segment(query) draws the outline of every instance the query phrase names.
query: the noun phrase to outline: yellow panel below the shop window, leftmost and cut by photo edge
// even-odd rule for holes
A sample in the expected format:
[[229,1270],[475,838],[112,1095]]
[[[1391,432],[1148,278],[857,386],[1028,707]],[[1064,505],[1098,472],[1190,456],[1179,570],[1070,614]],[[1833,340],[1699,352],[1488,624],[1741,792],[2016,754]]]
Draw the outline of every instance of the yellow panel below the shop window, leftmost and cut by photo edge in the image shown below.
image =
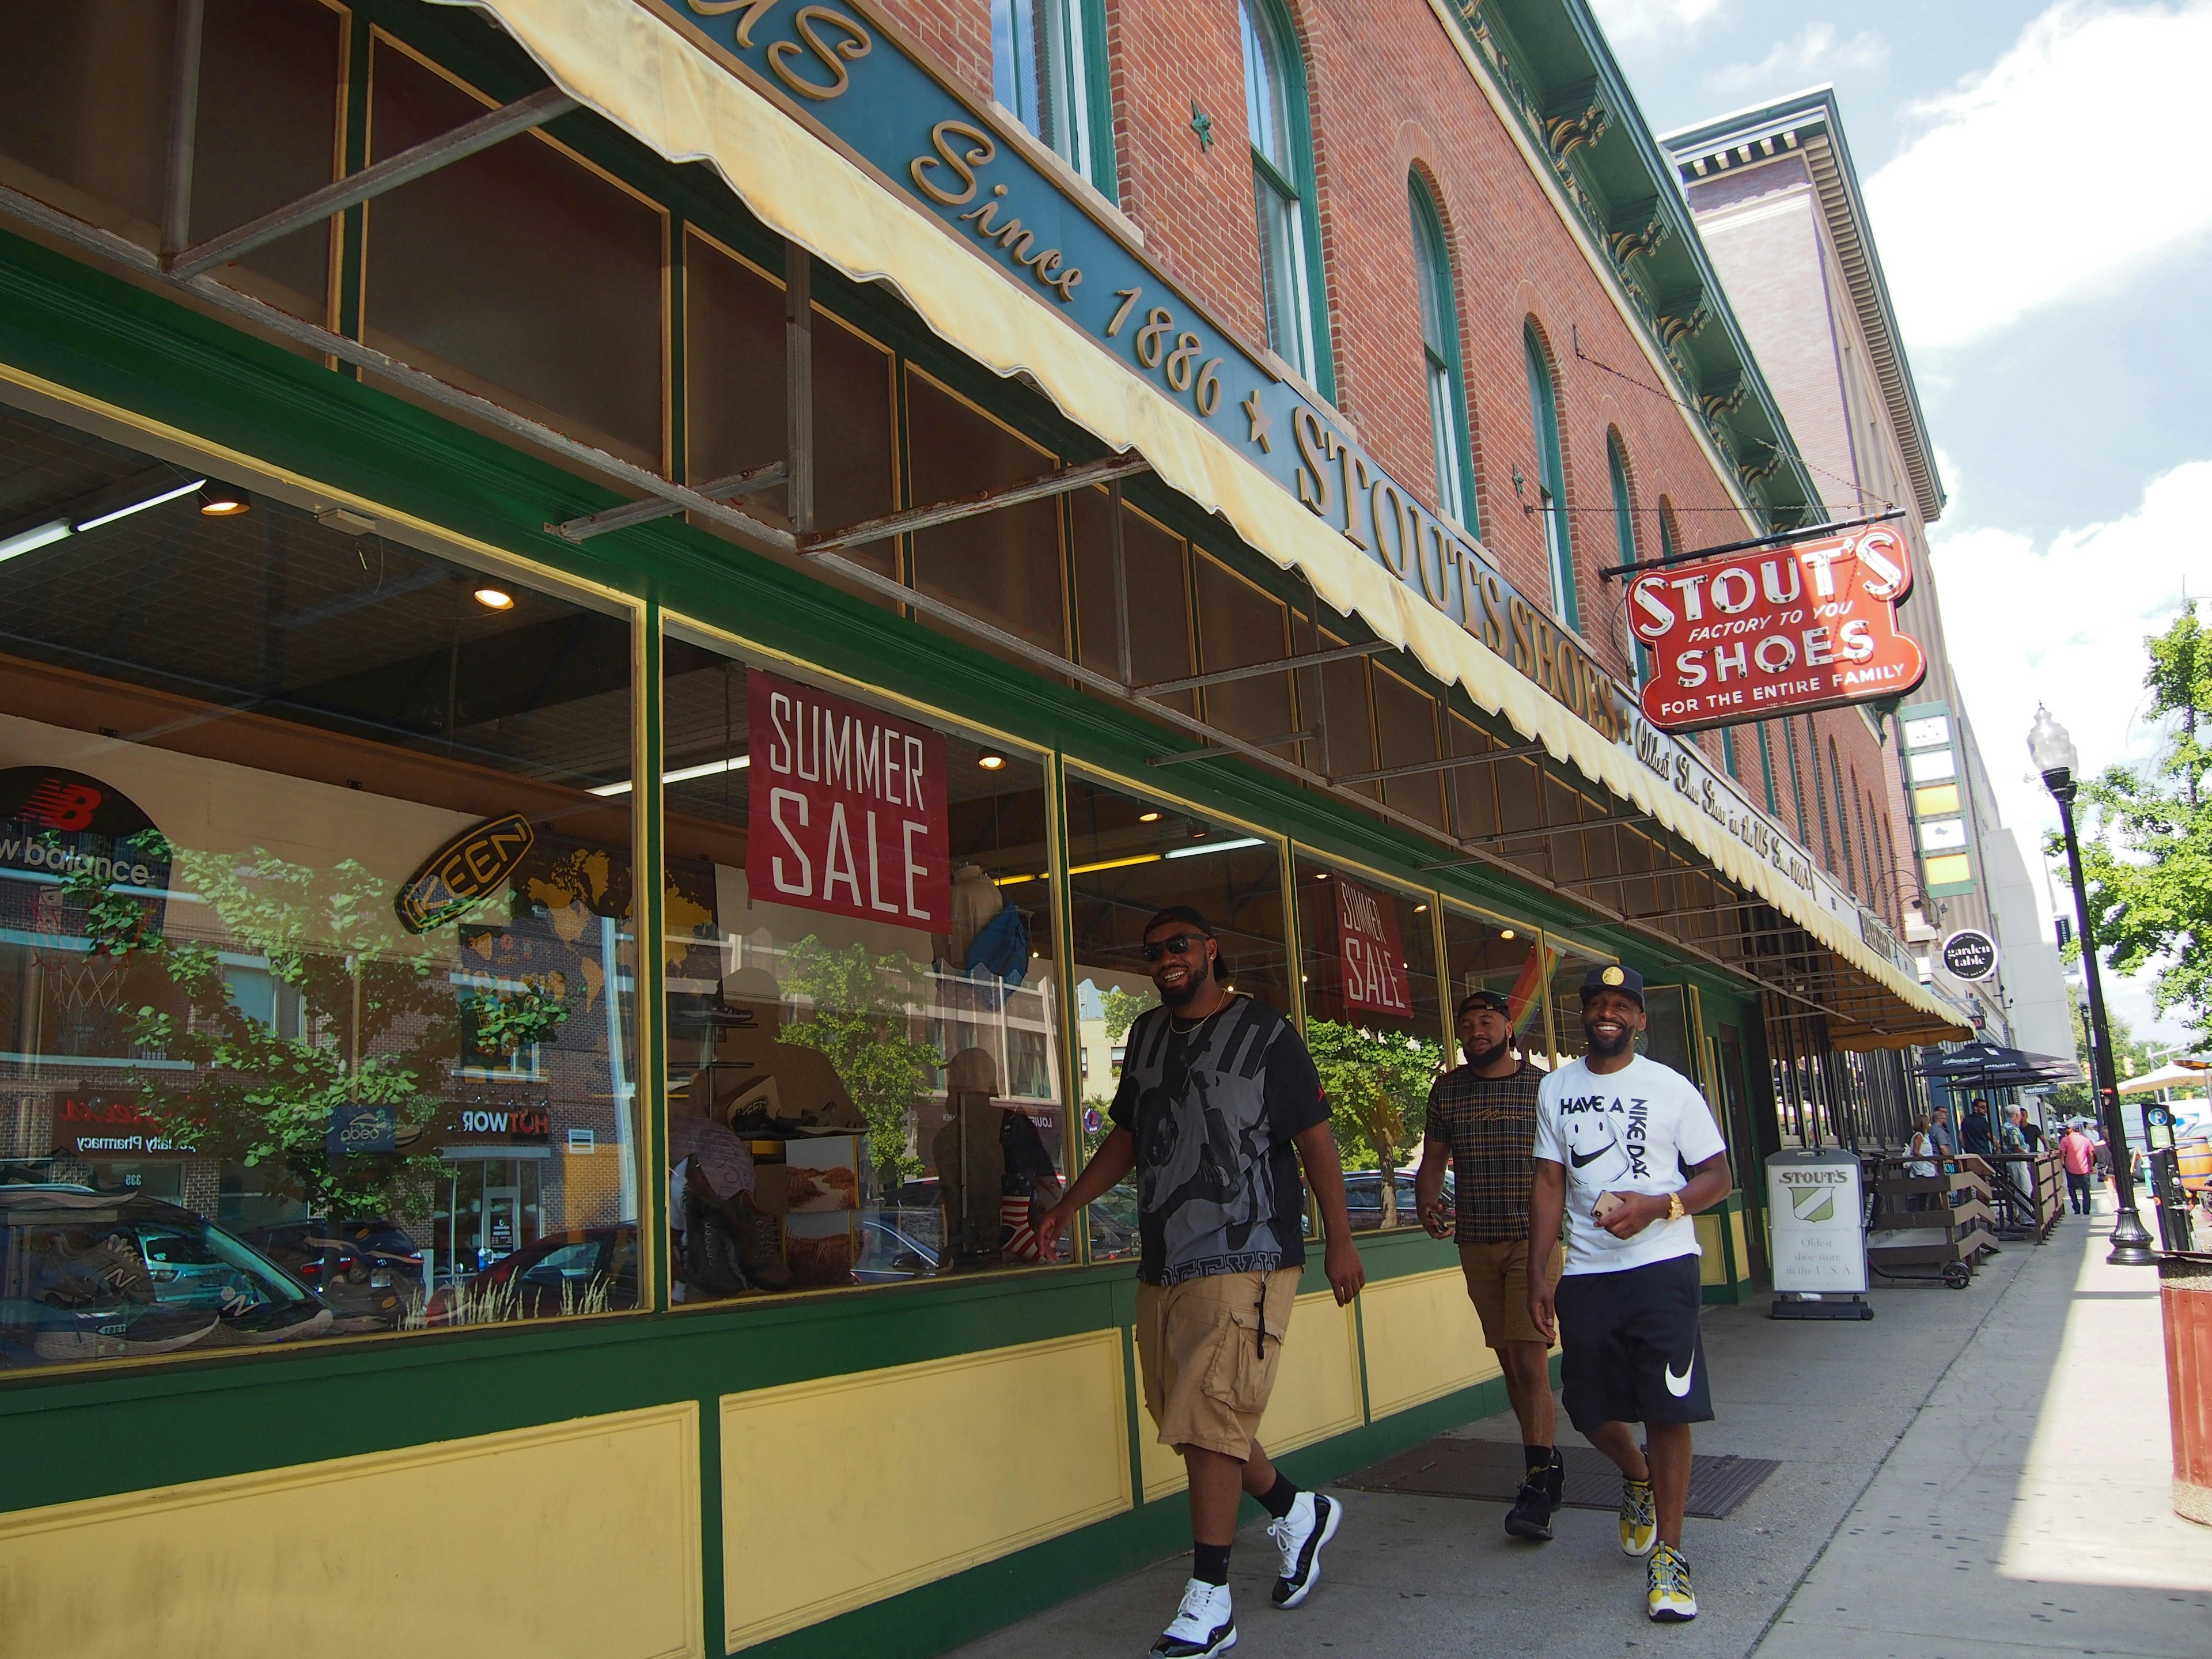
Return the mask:
[[0,1515],[4,1659],[699,1659],[699,1405]]

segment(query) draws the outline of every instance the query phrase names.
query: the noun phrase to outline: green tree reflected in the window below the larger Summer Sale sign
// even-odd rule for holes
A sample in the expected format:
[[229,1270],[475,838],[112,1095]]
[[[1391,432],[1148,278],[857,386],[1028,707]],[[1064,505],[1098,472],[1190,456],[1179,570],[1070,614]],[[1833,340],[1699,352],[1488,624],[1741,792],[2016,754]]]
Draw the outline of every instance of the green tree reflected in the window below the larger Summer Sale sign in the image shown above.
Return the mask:
[[933,1044],[909,1035],[914,975],[902,956],[874,956],[865,945],[834,949],[814,933],[783,958],[783,991],[810,1002],[812,1011],[787,1024],[781,1042],[830,1057],[867,1119],[869,1164],[887,1177],[922,1172],[907,1139],[931,1073],[945,1066]]

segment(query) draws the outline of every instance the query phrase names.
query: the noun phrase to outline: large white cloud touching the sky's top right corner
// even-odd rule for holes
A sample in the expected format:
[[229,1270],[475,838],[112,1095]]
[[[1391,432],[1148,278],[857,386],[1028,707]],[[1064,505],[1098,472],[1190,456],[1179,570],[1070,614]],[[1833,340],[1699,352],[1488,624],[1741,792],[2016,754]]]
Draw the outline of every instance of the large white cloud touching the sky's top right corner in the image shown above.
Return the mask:
[[2212,0],[2062,4],[1867,181],[1913,347],[1960,345],[2110,285],[2212,226],[2197,150]]

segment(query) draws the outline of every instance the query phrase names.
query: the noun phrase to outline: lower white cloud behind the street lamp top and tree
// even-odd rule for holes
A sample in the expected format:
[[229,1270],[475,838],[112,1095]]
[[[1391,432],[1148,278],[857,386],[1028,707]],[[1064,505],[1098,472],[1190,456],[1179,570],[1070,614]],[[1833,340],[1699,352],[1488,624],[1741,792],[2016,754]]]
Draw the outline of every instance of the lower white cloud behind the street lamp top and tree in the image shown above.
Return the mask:
[[[1951,460],[1938,465],[1958,478]],[[1953,493],[1953,522],[1958,502]],[[2157,752],[2161,732],[2143,719],[2141,641],[2179,613],[2183,584],[2199,595],[2212,591],[2212,557],[2203,553],[2208,518],[2212,460],[2192,460],[2152,478],[2126,518],[2062,531],[2042,546],[2013,531],[1938,526],[1931,551],[1951,666],[1997,810],[2020,834],[2031,874],[2044,832],[2059,827],[2028,765],[2035,706],[2048,703],[2073,734],[2084,772]],[[2055,869],[2053,883],[2064,883],[2064,872]],[[2048,907],[2053,894],[2042,880],[2035,887],[2037,902]],[[2073,916],[2070,896],[2057,889],[2055,898],[2057,914]],[[2152,1020],[2148,980],[2106,973],[2106,993],[2139,1035],[2150,1029],[2181,1035],[2174,1018]]]

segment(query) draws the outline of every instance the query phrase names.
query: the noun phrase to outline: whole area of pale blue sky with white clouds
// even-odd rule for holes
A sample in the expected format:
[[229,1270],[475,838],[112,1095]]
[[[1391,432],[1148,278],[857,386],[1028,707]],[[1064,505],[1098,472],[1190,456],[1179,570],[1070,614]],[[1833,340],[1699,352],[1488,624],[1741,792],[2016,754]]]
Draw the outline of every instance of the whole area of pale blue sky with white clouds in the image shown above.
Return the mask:
[[2035,869],[2037,699],[2086,768],[2146,759],[2141,637],[2212,595],[2212,0],[1593,9],[1655,133],[1836,88],[1951,493],[1951,659]]

